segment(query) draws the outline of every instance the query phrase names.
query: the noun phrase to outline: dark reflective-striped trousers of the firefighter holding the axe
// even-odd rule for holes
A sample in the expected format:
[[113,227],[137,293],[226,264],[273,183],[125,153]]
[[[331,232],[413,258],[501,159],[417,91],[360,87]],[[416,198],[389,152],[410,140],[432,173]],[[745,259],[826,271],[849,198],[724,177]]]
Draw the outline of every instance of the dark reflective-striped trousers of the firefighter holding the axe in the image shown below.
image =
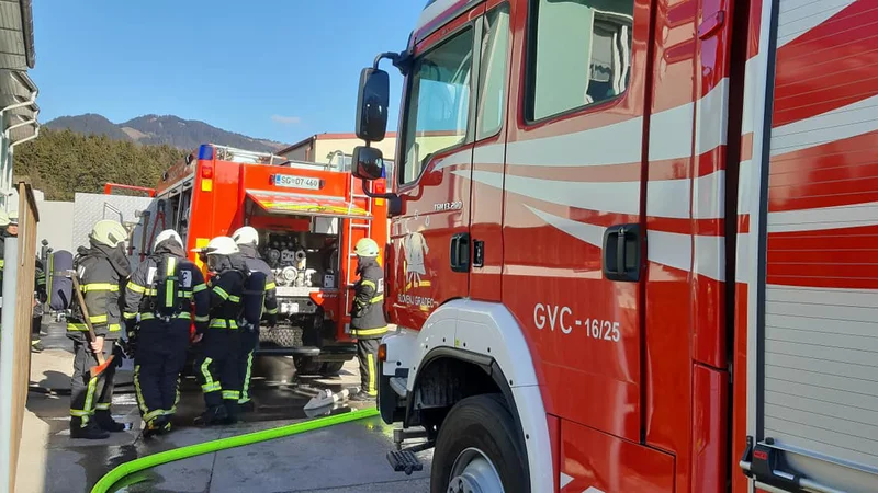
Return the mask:
[[[113,354],[113,341],[103,342],[103,357]],[[110,413],[113,401],[113,377],[116,362],[113,360],[98,376],[91,375],[91,367],[98,365],[98,357],[82,339],[74,340],[74,377],[70,381],[70,425],[85,427],[97,412]]]

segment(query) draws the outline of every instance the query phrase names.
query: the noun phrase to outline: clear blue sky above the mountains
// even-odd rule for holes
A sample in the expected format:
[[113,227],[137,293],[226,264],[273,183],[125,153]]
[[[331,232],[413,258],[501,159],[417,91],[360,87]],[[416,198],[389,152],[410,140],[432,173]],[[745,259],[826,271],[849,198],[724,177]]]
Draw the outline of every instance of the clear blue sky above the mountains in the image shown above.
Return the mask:
[[[37,1],[40,121],[173,114],[285,144],[353,131],[360,69],[405,48],[425,3]],[[382,68],[395,129],[402,78]]]

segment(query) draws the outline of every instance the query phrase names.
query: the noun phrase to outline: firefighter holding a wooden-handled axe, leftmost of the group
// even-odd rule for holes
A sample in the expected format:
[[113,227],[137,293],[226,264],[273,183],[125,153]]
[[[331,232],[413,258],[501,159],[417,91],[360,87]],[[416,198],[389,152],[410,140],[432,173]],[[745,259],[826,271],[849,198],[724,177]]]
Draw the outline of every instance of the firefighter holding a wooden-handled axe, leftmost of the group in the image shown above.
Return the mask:
[[100,220],[89,236],[90,248],[80,246],[74,261],[97,340],[89,342],[88,325],[74,296],[67,320],[67,336],[74,341],[75,354],[70,381],[71,438],[101,439],[109,436],[106,432],[125,429],[110,414],[116,365],[111,364],[98,376],[91,376],[90,368],[98,363],[97,353],[103,353],[104,358],[113,354],[122,333],[120,288],[131,273],[125,256],[127,237],[125,227],[117,221]]

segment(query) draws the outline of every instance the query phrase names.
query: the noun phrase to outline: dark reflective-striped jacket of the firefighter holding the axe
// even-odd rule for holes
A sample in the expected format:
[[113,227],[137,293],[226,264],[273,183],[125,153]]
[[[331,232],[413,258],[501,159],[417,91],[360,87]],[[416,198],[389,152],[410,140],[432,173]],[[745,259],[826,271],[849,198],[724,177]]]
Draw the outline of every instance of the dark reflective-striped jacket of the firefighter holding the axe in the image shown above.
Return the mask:
[[[77,250],[74,268],[79,277],[94,335],[119,339],[122,331],[120,294],[131,273],[125,252],[120,248],[112,249],[92,241],[91,248],[80,246]],[[78,337],[88,332],[88,325],[82,319],[82,309],[76,296],[71,306],[67,334]]]

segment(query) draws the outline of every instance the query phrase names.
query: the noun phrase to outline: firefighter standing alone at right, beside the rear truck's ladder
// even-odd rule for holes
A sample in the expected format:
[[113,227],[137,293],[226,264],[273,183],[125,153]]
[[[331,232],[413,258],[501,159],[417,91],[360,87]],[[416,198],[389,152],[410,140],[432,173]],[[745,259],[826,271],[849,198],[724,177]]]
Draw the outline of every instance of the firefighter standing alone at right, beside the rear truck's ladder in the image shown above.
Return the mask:
[[350,332],[357,337],[357,357],[360,360],[360,391],[354,401],[372,400],[378,395],[375,362],[381,337],[387,333],[384,319],[384,270],[378,264],[378,243],[363,238],[353,249],[357,254],[357,274],[360,279],[353,286]]

